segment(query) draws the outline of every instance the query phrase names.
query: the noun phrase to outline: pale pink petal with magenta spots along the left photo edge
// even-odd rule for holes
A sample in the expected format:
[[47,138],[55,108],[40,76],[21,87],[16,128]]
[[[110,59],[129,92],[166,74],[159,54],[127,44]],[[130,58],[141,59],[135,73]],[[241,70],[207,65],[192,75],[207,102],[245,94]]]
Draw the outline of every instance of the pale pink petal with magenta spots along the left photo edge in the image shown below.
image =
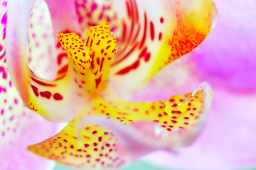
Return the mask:
[[6,6],[7,1],[0,1],[0,166],[1,169],[48,169],[52,162],[33,157],[26,147],[52,135],[57,127],[25,108],[11,83],[5,55]]

